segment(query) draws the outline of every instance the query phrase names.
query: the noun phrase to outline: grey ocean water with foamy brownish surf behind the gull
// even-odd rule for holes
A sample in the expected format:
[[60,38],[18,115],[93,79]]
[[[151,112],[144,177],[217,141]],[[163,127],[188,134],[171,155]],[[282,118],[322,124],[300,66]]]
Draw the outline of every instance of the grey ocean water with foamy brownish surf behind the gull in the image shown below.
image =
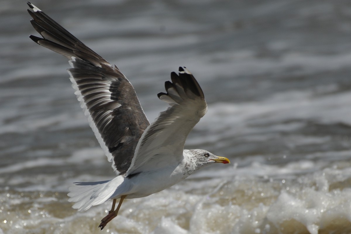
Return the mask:
[[26,1],[0,7],[0,233],[351,233],[351,2],[32,2],[116,64],[149,120],[186,66],[208,112],[186,148],[231,160],[146,198],[78,213],[76,181],[114,177],[63,56],[28,38]]

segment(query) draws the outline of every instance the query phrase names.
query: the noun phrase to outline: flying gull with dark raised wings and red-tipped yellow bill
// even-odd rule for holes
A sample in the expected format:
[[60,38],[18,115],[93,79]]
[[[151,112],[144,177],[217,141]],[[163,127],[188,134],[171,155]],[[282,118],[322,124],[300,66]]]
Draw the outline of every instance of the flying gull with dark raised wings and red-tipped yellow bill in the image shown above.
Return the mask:
[[117,216],[124,199],[160,192],[212,163],[230,163],[203,149],[184,149],[191,129],[207,112],[204,93],[186,67],[165,82],[166,93],[157,96],[169,107],[150,124],[132,84],[115,65],[27,4],[31,24],[42,36],[29,38],[68,58],[77,99],[116,174],[112,180],[77,182],[69,188],[68,201],[75,202],[72,207],[78,211],[112,200],[101,230]]

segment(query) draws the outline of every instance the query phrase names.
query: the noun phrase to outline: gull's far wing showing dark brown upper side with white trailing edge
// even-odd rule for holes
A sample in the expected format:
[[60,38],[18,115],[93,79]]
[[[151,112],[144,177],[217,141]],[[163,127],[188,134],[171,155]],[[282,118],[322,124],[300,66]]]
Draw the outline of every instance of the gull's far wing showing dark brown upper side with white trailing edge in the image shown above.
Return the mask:
[[130,167],[135,147],[150,123],[134,88],[116,66],[75,38],[66,29],[28,2],[34,29],[43,38],[31,35],[39,45],[66,56],[72,68],[72,86],[88,116],[108,161],[116,173]]

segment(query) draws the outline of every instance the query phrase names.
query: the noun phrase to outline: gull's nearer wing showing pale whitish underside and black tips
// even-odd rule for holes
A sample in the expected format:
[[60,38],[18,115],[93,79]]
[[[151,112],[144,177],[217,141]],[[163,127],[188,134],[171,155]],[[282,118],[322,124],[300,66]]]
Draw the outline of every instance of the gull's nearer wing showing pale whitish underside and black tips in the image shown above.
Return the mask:
[[179,67],[179,75],[172,72],[171,80],[165,82],[167,93],[158,94],[170,107],[141,135],[127,176],[177,165],[188,134],[207,111],[204,93],[185,67]]

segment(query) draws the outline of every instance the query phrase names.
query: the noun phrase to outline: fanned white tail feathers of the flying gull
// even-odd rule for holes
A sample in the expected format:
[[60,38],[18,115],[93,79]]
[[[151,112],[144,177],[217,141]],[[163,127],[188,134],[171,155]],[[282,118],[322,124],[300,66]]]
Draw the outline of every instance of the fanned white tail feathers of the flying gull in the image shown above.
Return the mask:
[[113,180],[75,183],[69,187],[68,201],[75,202],[72,208],[78,211],[87,210],[110,199],[122,182],[123,178],[117,176]]

